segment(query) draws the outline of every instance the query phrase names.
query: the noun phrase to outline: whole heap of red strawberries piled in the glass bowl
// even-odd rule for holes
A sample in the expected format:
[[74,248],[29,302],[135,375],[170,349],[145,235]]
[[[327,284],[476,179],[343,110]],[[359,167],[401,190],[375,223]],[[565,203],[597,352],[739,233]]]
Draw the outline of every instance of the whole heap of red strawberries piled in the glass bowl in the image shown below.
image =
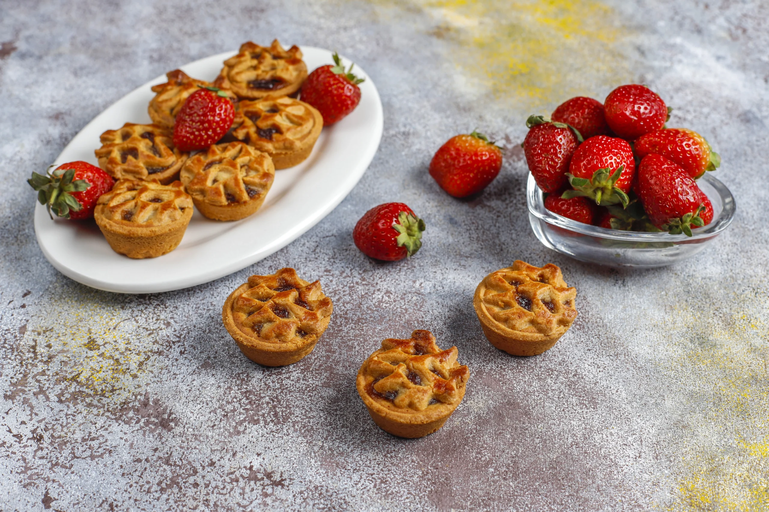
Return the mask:
[[697,185],[721,163],[705,139],[666,128],[671,109],[643,85],[622,85],[601,104],[577,97],[550,119],[532,115],[523,143],[545,208],[584,224],[691,236],[713,220]]

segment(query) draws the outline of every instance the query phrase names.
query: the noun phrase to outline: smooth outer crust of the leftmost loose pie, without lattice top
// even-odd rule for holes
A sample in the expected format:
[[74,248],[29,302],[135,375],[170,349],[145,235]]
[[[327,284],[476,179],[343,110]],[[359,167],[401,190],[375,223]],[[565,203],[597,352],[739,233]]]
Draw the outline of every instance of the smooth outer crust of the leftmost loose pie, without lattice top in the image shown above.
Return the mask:
[[[321,334],[309,334],[301,338],[301,341],[290,341],[288,343],[268,343],[258,337],[249,336],[241,331],[235,324],[235,318],[232,316],[232,304],[235,299],[244,294],[251,288],[248,283],[241,284],[233,291],[225,305],[221,308],[221,321],[225,324],[225,329],[230,334],[235,343],[241,349],[241,352],[251,361],[262,366],[286,366],[294,364],[309,354],[318,343]],[[323,331],[328,327],[331,316],[322,320]]]

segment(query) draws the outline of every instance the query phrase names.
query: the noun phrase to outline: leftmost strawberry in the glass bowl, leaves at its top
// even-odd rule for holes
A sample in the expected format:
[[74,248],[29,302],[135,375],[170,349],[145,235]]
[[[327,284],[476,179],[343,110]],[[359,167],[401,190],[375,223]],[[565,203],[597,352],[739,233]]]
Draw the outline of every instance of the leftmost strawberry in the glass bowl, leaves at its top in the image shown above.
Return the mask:
[[541,115],[531,115],[524,139],[524,155],[531,175],[543,192],[554,192],[566,187],[571,155],[579,140],[568,125],[545,121]]

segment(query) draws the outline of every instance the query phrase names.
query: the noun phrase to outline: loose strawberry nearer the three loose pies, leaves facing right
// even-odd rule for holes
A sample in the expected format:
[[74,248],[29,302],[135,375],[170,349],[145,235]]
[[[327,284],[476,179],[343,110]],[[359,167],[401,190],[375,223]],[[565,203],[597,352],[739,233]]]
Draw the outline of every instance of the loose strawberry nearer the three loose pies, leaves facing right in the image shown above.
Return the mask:
[[424,221],[403,203],[385,203],[367,211],[352,239],[363,254],[384,261],[412,256],[422,246]]

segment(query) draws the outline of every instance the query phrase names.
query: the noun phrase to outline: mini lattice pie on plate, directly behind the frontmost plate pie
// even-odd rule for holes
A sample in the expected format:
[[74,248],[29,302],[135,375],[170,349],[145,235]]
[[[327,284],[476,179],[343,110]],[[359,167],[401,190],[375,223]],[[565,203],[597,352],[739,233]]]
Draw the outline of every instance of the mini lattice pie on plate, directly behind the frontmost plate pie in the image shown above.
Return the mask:
[[102,147],[94,151],[98,165],[112,178],[160,181],[178,178],[188,154],[174,148],[171,132],[158,125],[125,123],[102,134]]

